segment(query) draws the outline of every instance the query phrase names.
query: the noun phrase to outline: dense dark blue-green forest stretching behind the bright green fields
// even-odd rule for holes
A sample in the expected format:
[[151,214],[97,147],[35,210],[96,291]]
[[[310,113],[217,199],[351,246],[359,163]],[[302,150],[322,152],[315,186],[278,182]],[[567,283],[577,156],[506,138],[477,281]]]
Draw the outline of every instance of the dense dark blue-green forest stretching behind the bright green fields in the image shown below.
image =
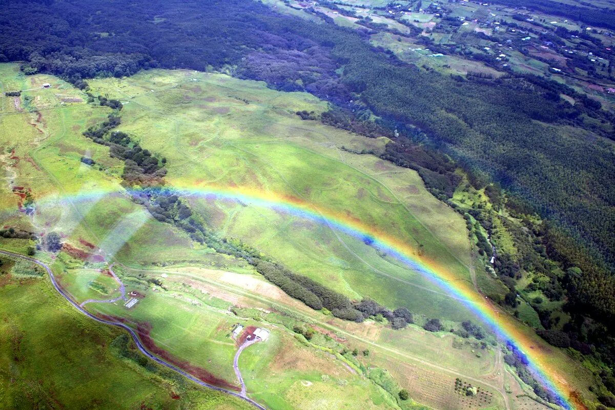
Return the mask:
[[[611,24],[599,10],[580,13],[579,7],[546,0],[531,6],[525,0],[511,2],[555,7],[588,24],[596,23],[598,13],[602,25]],[[534,227],[537,243],[528,248],[524,263],[548,273],[552,282],[545,287],[566,298],[565,309],[573,317],[565,329],[571,345],[581,349],[606,341],[613,346],[613,116],[597,101],[552,81],[513,74],[445,76],[403,63],[371,47],[370,30],[281,15],[252,1],[20,0],[6,4],[0,15],[0,61],[23,61],[26,74],[53,73],[86,89],[84,79],[90,77],[129,76],[154,67],[224,69],[275,89],[324,98],[336,108],[323,122],[389,136],[392,143],[383,158],[418,170],[440,199],[452,195],[459,184],[455,170],[462,167],[475,187],[495,182],[506,190],[507,203],[520,219],[534,212],[545,218],[544,226]],[[577,103],[572,106],[560,93],[574,95]],[[366,124],[372,114],[378,116],[377,127]],[[162,159],[154,162],[152,154],[135,149],[135,141],[122,135],[109,138],[115,126],[112,117],[109,121],[101,134],[105,138],[97,130],[90,138],[113,144],[114,155],[129,165],[126,183],[133,176],[164,176]],[[216,250],[240,252],[192,216],[176,218],[181,201],[158,198],[143,199],[157,218],[181,224],[199,242],[215,243]],[[484,216],[480,210],[476,215]],[[498,263],[500,277],[514,280],[517,262],[502,258]],[[318,306],[310,292],[304,295]],[[544,337],[562,339],[551,333]],[[615,363],[612,350],[596,354]]]

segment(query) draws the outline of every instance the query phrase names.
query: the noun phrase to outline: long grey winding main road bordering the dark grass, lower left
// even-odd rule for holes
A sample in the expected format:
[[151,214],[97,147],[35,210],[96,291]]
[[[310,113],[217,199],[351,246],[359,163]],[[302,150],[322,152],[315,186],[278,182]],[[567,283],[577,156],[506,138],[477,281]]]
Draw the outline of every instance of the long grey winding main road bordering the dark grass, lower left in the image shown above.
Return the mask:
[[[124,325],[124,323],[117,322],[117,321],[101,319],[99,317],[96,317],[92,313],[88,312],[87,310],[83,309],[81,306],[79,306],[79,304],[77,304],[77,302],[74,302],[73,299],[69,298],[68,294],[66,294],[62,290],[62,288],[60,288],[60,286],[58,285],[58,283],[55,280],[55,276],[54,276],[53,272],[51,271],[49,266],[47,266],[44,262],[41,262],[38,259],[30,258],[29,256],[23,256],[22,254],[13,253],[13,252],[4,251],[4,250],[0,250],[0,254],[6,254],[6,255],[12,256],[14,258],[25,259],[26,261],[33,262],[33,263],[37,264],[38,266],[42,267],[43,269],[45,269],[47,271],[47,274],[49,274],[49,279],[51,280],[52,285],[54,285],[55,290],[57,290],[58,293],[60,293],[71,305],[73,305],[73,307],[75,309],[79,310],[79,312],[83,313],[85,316],[87,316],[87,317],[89,317],[89,318],[91,318],[91,319],[93,319],[95,321],[98,321],[100,323],[105,323],[105,325],[117,326],[119,328],[122,328],[122,329],[125,329],[126,331],[128,331],[128,333],[130,333],[130,336],[132,336],[133,341],[135,341],[135,344],[137,345],[137,347],[141,351],[141,353],[143,353],[144,355],[149,357],[151,360],[154,360],[157,363],[159,363],[160,365],[165,366],[165,367],[167,367],[169,369],[172,369],[172,370],[176,371],[177,373],[179,373],[182,376],[192,380],[193,382],[195,382],[198,385],[210,388],[212,390],[216,390],[218,392],[227,393],[227,394],[229,394],[231,396],[235,396],[237,398],[240,398],[241,400],[247,401],[247,403],[252,404],[252,406],[255,406],[255,408],[257,408],[257,409],[267,410],[267,408],[261,406],[261,404],[256,403],[256,401],[254,401],[254,400],[252,400],[250,398],[247,398],[246,396],[242,396],[240,393],[233,392],[232,390],[227,390],[226,388],[217,387],[217,386],[205,383],[204,381],[197,379],[196,377],[192,376],[191,374],[186,373],[185,371],[183,371],[182,369],[178,368],[177,366],[174,366],[171,363],[167,363],[166,361],[162,360],[161,358],[154,356],[152,353],[148,352],[148,350],[145,349],[143,344],[141,344],[141,341],[139,340],[139,337],[137,336],[137,333],[135,333],[135,331],[133,331],[133,329],[131,329],[129,326]],[[242,391],[243,391],[243,388],[242,388]]]

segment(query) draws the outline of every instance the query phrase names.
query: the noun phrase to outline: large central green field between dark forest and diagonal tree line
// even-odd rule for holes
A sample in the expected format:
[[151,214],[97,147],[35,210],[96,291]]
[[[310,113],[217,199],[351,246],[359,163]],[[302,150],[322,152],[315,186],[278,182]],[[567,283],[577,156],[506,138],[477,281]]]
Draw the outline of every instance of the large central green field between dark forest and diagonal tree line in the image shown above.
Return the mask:
[[[295,116],[303,109],[326,109],[314,97],[188,71],[150,71],[130,82],[92,81],[92,87],[129,101],[119,129],[167,158],[169,181],[297,197],[404,238],[416,256],[424,253],[469,280],[462,219],[429,195],[414,171],[342,149],[378,152],[386,141]],[[413,286],[435,290],[424,278],[329,227],[263,208],[194,202],[224,234],[351,298],[370,294],[388,306],[405,305],[426,315],[455,312],[451,318],[462,318],[463,311],[450,309],[447,298]],[[409,286],[399,286],[400,280]]]

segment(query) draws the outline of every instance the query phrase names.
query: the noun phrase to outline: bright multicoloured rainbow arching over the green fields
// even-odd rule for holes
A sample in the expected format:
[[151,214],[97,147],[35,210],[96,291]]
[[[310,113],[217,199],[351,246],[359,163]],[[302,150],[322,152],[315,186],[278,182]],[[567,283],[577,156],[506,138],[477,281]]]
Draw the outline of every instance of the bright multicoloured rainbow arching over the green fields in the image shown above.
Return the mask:
[[[169,184],[165,187],[172,189],[175,194],[198,196],[205,199],[236,200],[258,207],[270,208],[282,213],[305,218],[315,223],[324,224],[386,251],[387,254],[394,256],[394,258],[403,262],[411,269],[416,270],[416,272],[437,285],[446,294],[459,299],[499,339],[506,342],[511,349],[515,350],[522,357],[533,376],[554,395],[562,408],[570,410],[584,408],[582,403],[574,400],[573,388],[566,382],[565,377],[549,363],[547,360],[548,355],[538,349],[534,341],[536,336],[531,329],[519,326],[513,318],[507,315],[507,313],[502,312],[496,304],[483,298],[469,283],[459,281],[458,277],[438,266],[436,262],[422,256],[415,256],[415,249],[402,240],[392,237],[386,234],[386,232],[379,231],[374,227],[367,226],[344,213],[320,208],[289,195],[279,195],[250,187],[196,186],[196,184],[185,184],[181,183],[181,181],[168,182]],[[94,199],[110,193],[110,191],[81,192],[72,197],[65,197],[65,199],[72,202],[73,199]],[[534,349],[534,346],[537,349]]]

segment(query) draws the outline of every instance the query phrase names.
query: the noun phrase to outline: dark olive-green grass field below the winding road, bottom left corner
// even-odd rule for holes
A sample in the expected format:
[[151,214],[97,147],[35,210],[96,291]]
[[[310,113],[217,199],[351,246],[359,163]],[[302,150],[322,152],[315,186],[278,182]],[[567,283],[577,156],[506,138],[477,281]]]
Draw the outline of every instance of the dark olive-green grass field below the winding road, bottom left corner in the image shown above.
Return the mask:
[[77,313],[47,278],[2,282],[0,408],[251,408],[122,357],[112,347],[122,332]]

